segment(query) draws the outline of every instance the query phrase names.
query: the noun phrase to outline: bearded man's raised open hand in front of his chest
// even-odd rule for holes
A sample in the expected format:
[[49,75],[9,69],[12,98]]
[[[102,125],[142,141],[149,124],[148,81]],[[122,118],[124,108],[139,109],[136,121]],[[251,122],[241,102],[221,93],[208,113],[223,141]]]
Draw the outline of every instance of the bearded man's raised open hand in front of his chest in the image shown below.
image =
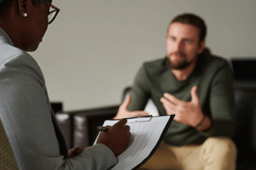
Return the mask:
[[164,105],[167,115],[175,115],[173,120],[195,127],[203,118],[196,91],[197,87],[194,86],[191,89],[191,101],[189,102],[177,99],[171,94],[164,94],[164,98],[161,98],[160,101]]

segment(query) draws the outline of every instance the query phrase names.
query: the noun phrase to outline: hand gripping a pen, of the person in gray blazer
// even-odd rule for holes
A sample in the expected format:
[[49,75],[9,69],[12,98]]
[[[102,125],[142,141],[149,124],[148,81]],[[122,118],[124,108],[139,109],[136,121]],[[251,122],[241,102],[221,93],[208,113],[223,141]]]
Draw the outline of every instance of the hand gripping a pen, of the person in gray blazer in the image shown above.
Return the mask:
[[114,156],[119,156],[126,150],[129,139],[131,138],[130,127],[125,125],[126,119],[121,119],[107,131],[102,131],[96,143],[105,144],[113,151]]

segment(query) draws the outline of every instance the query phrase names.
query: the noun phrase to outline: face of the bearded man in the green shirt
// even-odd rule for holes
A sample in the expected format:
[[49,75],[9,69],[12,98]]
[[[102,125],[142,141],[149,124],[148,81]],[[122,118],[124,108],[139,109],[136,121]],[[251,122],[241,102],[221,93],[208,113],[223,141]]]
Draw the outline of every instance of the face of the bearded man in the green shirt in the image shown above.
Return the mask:
[[166,37],[166,54],[172,69],[182,70],[196,62],[205,42],[200,42],[199,29],[195,26],[173,22]]

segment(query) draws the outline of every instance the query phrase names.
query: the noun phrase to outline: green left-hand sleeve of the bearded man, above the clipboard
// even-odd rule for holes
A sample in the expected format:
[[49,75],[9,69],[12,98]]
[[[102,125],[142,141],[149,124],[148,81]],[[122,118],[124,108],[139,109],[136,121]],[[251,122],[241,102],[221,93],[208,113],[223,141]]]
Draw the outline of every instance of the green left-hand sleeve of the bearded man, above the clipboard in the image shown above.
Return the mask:
[[129,111],[143,111],[145,109],[150,94],[148,84],[148,75],[143,65],[137,72],[137,76],[131,87]]

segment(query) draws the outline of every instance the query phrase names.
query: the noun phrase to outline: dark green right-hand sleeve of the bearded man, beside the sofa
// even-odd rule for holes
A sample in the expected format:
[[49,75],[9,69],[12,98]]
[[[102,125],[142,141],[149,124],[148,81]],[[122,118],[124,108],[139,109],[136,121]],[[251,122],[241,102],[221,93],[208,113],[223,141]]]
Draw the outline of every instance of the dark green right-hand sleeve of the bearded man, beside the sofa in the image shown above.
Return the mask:
[[225,61],[215,73],[210,89],[210,110],[212,127],[203,135],[231,137],[235,131],[236,106],[234,98],[233,74]]

